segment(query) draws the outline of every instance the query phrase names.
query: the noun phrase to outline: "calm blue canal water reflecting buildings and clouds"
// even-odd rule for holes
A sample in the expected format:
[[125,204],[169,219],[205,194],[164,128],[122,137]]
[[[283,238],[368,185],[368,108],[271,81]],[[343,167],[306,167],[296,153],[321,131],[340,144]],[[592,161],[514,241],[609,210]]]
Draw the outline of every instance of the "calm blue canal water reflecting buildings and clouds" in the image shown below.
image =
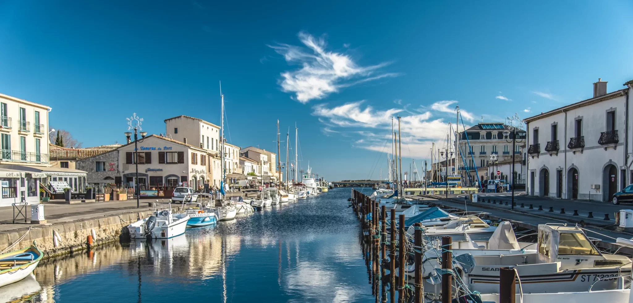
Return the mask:
[[373,302],[350,191],[46,261],[0,303]]

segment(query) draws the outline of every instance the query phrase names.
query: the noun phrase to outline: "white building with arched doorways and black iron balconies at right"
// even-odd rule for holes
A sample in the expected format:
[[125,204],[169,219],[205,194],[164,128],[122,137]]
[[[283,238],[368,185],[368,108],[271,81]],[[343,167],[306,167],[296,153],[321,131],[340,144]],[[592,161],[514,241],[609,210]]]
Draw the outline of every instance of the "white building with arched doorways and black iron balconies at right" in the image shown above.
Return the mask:
[[591,99],[527,118],[527,194],[610,201],[630,173],[631,83],[607,93],[594,83]]

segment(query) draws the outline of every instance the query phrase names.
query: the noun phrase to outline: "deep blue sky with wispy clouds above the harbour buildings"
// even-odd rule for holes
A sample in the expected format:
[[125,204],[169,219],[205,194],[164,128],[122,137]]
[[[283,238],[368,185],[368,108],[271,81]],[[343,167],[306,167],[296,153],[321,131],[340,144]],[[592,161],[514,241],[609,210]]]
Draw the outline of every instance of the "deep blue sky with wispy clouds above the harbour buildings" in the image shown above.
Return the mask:
[[276,149],[297,123],[301,166],[342,180],[385,174],[391,116],[421,169],[456,105],[526,118],[633,79],[630,1],[170,2],[0,0],[0,92],[91,146],[132,113],[219,123],[222,80],[232,144]]

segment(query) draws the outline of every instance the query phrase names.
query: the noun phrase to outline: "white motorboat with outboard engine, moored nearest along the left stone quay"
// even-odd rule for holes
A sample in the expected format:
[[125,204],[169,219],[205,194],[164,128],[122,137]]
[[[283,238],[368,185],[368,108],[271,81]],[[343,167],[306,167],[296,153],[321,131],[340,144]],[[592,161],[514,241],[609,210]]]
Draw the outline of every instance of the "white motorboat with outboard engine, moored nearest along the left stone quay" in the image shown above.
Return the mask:
[[189,215],[175,214],[170,209],[154,211],[152,216],[136,221],[127,226],[130,237],[136,238],[171,238],[185,233]]

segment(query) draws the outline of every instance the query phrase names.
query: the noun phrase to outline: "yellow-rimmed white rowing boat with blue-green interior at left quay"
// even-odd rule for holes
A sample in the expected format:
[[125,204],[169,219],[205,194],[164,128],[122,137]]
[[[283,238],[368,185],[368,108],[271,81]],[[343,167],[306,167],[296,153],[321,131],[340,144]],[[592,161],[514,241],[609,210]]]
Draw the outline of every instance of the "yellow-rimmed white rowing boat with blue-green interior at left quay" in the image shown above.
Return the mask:
[[0,255],[0,287],[26,278],[39,264],[42,252],[32,245]]

